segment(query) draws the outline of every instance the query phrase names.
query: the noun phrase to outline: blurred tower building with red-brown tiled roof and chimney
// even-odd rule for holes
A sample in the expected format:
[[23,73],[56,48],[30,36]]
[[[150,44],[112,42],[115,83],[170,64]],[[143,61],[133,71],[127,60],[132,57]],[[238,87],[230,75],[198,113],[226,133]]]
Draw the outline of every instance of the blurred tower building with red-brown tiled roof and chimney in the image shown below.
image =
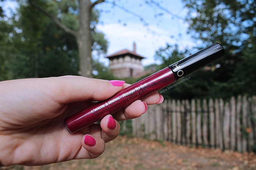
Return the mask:
[[143,72],[142,66],[143,56],[136,53],[136,44],[133,43],[133,51],[121,50],[107,56],[109,59],[109,68],[113,75],[118,78],[128,78]]

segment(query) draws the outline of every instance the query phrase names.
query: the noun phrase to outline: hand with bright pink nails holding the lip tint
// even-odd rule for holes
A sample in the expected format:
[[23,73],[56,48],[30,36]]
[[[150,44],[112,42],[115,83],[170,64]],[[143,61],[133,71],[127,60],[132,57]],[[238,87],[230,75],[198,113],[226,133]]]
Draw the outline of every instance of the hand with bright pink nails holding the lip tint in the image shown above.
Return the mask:
[[163,99],[155,92],[113,117],[105,116],[100,124],[68,133],[65,118],[128,86],[112,84],[80,76],[0,82],[0,166],[97,158],[105,150],[105,143],[118,136],[117,121],[137,118],[147,110],[146,104]]

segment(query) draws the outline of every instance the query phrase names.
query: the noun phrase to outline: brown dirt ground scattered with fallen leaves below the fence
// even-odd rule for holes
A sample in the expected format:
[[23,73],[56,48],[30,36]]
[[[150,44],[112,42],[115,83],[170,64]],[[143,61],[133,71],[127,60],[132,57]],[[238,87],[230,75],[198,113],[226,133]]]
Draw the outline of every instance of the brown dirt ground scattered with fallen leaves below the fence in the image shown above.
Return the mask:
[[[0,168],[1,169],[1,168]],[[254,153],[190,148],[169,142],[118,137],[97,159],[74,160],[13,170],[256,170]]]

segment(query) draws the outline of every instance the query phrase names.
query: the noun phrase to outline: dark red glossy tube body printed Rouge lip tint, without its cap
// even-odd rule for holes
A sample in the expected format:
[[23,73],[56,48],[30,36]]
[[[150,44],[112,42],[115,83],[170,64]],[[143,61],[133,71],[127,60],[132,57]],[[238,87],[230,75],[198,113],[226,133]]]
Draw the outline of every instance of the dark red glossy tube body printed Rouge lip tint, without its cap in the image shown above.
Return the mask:
[[163,70],[124,88],[111,98],[97,102],[85,110],[70,116],[65,119],[65,125],[70,133],[74,133],[83,127],[101,120],[106,115],[113,114],[114,112],[129,106],[136,100],[142,99],[175,81],[171,69],[166,67]]

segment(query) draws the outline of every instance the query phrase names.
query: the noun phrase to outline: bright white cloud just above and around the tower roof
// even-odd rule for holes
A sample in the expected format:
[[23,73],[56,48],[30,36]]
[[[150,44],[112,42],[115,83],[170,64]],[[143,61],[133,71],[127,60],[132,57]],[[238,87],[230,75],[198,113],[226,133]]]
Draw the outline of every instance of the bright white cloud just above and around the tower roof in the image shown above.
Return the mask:
[[[170,24],[171,25],[171,24]],[[143,65],[156,63],[154,60],[155,51],[160,47],[165,47],[166,43],[179,44],[181,47],[191,46],[192,42],[188,37],[182,39],[171,38],[171,35],[178,35],[180,30],[177,27],[169,27],[168,31],[160,29],[157,26],[150,25],[150,31],[148,27],[144,27],[142,24],[127,23],[127,26],[123,26],[118,23],[98,25],[98,30],[105,33],[106,38],[109,41],[108,54],[111,55],[117,51],[127,49],[133,50],[133,42],[136,43],[137,53],[146,57],[143,59]],[[185,31],[186,29],[184,29]],[[155,33],[152,33],[154,31]],[[182,33],[182,35],[184,35]],[[185,36],[185,35],[184,35]],[[178,36],[176,36],[178,37]],[[108,59],[102,59],[102,61],[108,63]]]

